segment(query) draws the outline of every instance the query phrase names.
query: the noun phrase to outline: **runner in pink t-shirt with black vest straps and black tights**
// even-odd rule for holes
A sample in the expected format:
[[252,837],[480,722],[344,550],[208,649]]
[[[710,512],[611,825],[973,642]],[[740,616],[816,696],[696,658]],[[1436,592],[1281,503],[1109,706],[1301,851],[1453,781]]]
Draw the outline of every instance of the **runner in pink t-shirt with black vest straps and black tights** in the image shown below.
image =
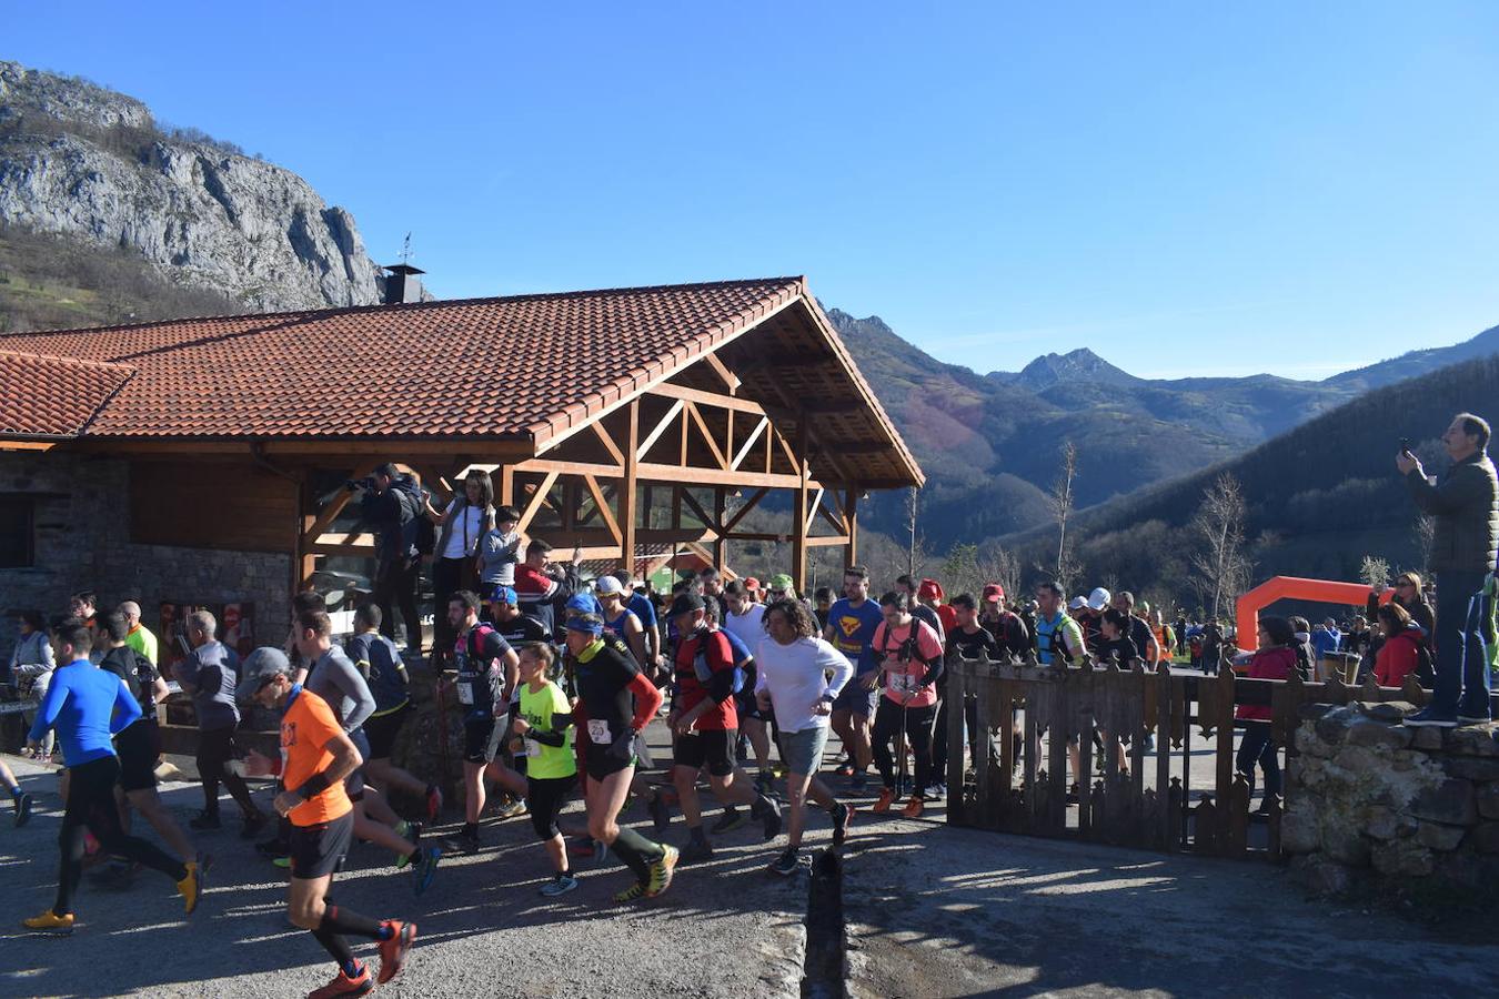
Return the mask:
[[884,620],[874,631],[874,652],[880,659],[884,696],[874,716],[874,762],[880,768],[884,788],[875,801],[875,812],[889,812],[896,795],[895,750],[901,749],[901,732],[911,743],[916,758],[916,783],[902,813],[914,819],[922,813],[931,786],[932,719],[937,714],[937,677],[941,675],[941,643],[926,622],[911,617],[910,604],[899,590],[880,598]]

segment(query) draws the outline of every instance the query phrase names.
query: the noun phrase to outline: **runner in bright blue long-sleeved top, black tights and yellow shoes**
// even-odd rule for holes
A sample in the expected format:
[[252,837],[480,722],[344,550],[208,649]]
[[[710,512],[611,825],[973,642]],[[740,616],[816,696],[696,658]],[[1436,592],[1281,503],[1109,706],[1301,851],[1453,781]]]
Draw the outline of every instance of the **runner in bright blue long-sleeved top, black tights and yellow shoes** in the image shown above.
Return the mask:
[[55,728],[67,767],[67,801],[57,834],[61,854],[57,900],[46,912],[24,920],[28,930],[42,933],[73,932],[72,897],[82,873],[85,828],[111,855],[126,857],[177,882],[187,915],[198,908],[202,893],[196,861],[174,860],[151,843],[126,836],[120,828],[120,812],[114,801],[120,758],[115,756],[111,737],[141,717],[141,705],[118,677],[88,662],[91,649],[93,635],[76,617],[64,619],[52,631],[52,652],[57,653],[57,662],[66,665],[54,671],[27,737],[36,746],[49,728]]

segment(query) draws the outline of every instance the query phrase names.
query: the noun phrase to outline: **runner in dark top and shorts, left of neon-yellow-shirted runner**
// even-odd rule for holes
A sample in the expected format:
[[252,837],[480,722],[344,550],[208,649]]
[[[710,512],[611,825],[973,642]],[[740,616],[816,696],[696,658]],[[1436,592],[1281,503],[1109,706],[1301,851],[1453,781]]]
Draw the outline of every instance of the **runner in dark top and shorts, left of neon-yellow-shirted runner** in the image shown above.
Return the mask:
[[[499,632],[480,623],[478,596],[472,590],[459,590],[448,601],[448,623],[457,632],[451,687],[463,714],[463,828],[457,842],[462,851],[472,854],[480,846],[484,774],[492,771],[505,734],[496,714],[510,702],[520,661]],[[493,768],[492,773],[516,794],[525,794],[525,782],[508,767]]]

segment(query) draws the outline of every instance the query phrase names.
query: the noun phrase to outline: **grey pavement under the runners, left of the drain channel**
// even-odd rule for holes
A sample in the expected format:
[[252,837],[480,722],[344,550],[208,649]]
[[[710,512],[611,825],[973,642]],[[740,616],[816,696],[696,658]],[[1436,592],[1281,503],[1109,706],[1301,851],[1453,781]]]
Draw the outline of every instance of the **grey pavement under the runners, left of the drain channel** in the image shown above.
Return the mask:
[[[252,857],[237,828],[201,839],[217,860],[189,921],[174,888],[142,872],[124,894],[90,890],[85,879],[72,938],[12,932],[22,915],[51,905],[58,798],[52,776],[9,762],[28,789],[42,792],[42,812],[21,830],[10,828],[9,806],[0,813],[0,995],[280,998],[306,995],[331,977],[327,954],[285,923],[285,875]],[[193,785],[172,785],[166,798],[183,821],[201,803]],[[676,824],[673,836],[681,834]],[[588,861],[579,891],[544,903],[535,890],[546,861],[529,822],[492,824],[486,836],[493,846],[444,863],[421,899],[376,848],[355,849],[334,897],[421,927],[411,966],[382,995],[603,999],[799,990],[806,879],[764,873],[772,854],[750,827],[723,837],[709,866],[679,869],[664,897],[633,908],[610,902],[628,872],[582,867]]]

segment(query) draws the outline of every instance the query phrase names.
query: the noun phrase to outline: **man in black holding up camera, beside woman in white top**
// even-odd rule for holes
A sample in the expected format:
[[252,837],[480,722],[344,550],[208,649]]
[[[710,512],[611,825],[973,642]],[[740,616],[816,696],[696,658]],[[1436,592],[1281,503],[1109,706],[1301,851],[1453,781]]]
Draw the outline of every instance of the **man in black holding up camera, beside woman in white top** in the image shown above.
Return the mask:
[[421,487],[396,466],[385,463],[349,490],[361,490],[360,515],[375,532],[375,592],[381,610],[381,634],[396,638],[394,605],[406,625],[406,649],[421,655],[421,617],[417,616],[417,580],[421,575],[418,517],[426,509]]

